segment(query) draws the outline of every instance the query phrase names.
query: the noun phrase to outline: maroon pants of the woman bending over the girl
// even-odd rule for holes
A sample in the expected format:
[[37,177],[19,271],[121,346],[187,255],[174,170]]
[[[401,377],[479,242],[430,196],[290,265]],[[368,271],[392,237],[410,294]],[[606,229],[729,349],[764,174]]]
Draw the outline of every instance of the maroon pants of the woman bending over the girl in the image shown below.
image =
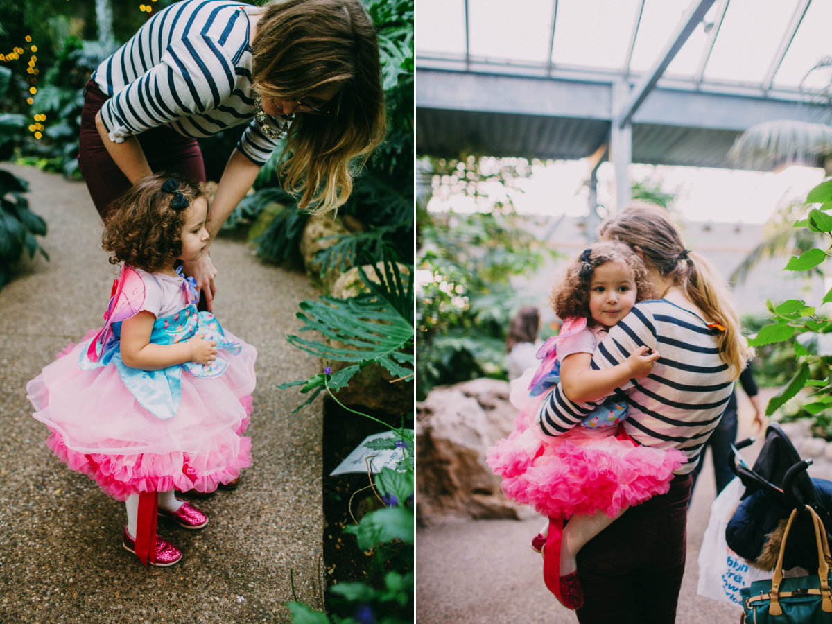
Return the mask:
[[[102,218],[116,197],[130,188],[102,142],[96,127],[96,114],[109,97],[90,80],[84,89],[81,136],[78,140],[78,168]],[[201,182],[206,181],[202,152],[196,139],[182,136],[167,126],[158,126],[137,135],[151,171],[171,171]]]

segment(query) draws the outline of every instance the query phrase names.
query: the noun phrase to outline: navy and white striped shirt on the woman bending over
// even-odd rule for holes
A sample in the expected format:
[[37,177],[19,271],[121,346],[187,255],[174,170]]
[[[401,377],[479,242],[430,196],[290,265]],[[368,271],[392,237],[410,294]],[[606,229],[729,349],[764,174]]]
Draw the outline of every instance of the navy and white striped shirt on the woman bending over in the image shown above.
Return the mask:
[[[211,136],[251,120],[237,149],[263,165],[279,139],[265,136],[252,119],[257,94],[248,15],[257,10],[228,0],[184,0],[145,22],[92,74],[111,96],[101,109],[111,141],[156,126]],[[278,130],[288,120],[271,125]]]

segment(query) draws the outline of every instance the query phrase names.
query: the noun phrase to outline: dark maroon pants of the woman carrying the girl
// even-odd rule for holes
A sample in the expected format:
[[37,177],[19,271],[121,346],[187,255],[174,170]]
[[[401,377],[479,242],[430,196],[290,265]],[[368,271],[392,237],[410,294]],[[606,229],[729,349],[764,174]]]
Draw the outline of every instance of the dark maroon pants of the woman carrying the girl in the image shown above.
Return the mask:
[[673,624],[685,573],[687,502],[693,478],[628,509],[578,552],[586,597],[581,624]]

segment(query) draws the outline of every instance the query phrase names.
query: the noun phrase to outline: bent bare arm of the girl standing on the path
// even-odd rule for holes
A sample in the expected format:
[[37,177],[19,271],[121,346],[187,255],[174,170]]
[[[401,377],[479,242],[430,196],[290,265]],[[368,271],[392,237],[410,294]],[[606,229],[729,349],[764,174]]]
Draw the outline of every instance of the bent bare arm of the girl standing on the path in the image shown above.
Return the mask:
[[131,369],[160,370],[176,364],[210,364],[216,359],[216,343],[196,334],[184,343],[151,344],[156,316],[141,310],[121,323],[121,359]]

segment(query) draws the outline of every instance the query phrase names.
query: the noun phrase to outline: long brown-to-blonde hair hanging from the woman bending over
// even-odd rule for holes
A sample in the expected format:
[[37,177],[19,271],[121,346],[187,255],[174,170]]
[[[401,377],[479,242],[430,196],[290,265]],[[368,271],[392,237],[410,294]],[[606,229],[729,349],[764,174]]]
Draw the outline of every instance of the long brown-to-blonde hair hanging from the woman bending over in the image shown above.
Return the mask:
[[260,97],[300,102],[339,87],[328,115],[295,116],[279,167],[287,189],[302,191],[300,208],[338,208],[384,140],[373,22],[360,0],[273,0],[264,7],[252,48],[251,80]]

